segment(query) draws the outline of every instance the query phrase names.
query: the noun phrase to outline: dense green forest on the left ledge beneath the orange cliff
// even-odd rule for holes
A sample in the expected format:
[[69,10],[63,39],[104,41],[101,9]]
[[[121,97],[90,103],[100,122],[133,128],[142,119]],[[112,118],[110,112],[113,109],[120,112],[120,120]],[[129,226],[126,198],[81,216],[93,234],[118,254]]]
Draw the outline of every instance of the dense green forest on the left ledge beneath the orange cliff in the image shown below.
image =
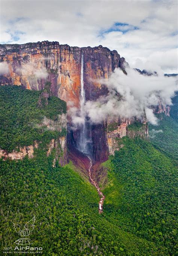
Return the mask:
[[[44,89],[48,90],[48,83]],[[42,91],[26,90],[21,86],[0,86],[0,148],[12,152],[29,146],[34,140],[56,138],[56,130],[39,127],[44,117],[54,120],[66,113],[66,102],[57,97],[42,97]],[[48,103],[48,104],[46,104]]]

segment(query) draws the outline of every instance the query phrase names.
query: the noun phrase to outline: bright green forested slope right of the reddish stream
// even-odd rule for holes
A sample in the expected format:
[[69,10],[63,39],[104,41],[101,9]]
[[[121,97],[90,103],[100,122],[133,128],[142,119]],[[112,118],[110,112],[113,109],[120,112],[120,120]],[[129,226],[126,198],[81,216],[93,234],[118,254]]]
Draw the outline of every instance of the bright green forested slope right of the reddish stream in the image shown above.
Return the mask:
[[177,170],[171,159],[148,141],[121,140],[124,147],[103,164],[109,169],[104,215],[174,255]]

